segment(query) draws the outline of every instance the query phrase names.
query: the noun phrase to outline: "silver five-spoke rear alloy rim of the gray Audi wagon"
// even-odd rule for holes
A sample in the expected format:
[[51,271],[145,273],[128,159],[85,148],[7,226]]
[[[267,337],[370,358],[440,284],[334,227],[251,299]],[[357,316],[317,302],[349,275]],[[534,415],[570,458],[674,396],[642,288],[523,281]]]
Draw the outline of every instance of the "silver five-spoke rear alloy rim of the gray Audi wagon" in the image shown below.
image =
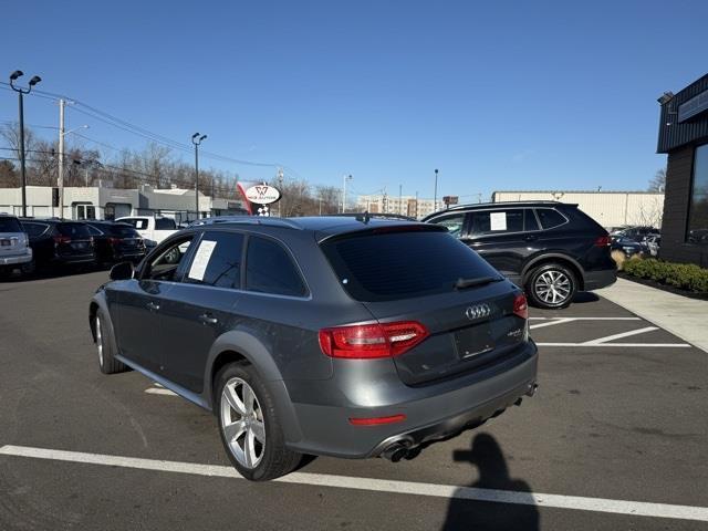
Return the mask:
[[221,430],[229,450],[246,468],[258,467],[266,451],[266,423],[251,386],[230,378],[221,391]]

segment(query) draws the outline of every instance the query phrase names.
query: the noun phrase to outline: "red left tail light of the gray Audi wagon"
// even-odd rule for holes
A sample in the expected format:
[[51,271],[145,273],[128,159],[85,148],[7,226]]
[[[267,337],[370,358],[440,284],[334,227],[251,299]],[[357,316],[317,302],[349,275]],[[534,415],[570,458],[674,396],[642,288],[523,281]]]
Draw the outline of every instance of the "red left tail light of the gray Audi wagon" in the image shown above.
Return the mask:
[[429,334],[416,321],[357,324],[320,331],[320,348],[331,357],[393,357],[409,351]]

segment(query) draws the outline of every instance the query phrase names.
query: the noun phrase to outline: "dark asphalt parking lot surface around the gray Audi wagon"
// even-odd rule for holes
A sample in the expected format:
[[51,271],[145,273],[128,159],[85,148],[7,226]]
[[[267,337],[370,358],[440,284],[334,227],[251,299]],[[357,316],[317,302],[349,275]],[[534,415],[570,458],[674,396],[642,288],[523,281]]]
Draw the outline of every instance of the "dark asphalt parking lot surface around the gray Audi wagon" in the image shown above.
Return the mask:
[[98,372],[106,272],[0,283],[0,529],[706,529],[708,354],[604,299],[532,311],[539,393],[399,464],[236,477],[216,419]]

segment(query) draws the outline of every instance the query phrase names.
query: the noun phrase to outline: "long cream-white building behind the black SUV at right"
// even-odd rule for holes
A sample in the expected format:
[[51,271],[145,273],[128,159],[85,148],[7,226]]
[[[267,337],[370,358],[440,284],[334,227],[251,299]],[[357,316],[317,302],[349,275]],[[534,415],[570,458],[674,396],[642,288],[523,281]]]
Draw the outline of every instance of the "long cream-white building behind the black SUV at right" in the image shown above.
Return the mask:
[[492,202],[553,200],[577,204],[605,228],[622,226],[662,227],[664,194],[654,191],[494,191]]

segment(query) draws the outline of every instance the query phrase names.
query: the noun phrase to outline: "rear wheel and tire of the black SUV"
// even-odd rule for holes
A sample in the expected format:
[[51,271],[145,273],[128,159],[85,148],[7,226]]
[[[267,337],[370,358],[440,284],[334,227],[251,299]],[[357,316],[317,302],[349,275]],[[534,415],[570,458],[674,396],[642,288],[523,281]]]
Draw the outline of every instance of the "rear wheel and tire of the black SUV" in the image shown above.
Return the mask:
[[531,272],[527,294],[532,305],[546,310],[566,308],[577,291],[575,273],[558,262],[545,263]]

